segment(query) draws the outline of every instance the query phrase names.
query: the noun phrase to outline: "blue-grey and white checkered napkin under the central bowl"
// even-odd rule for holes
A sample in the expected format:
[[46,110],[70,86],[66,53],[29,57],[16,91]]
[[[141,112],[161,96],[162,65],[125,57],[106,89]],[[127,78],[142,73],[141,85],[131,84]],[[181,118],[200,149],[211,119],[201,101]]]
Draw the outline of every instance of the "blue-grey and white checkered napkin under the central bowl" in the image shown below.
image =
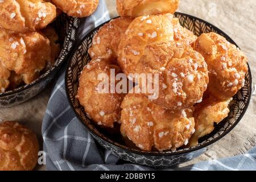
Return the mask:
[[[80,36],[109,20],[104,0],[100,1],[97,11],[82,19]],[[79,42],[79,41],[77,41]],[[65,68],[55,82],[51,98],[43,120],[42,134],[46,152],[47,170],[152,170],[144,166],[126,164],[104,150],[86,129],[77,121],[65,94]],[[256,148],[245,155],[228,159],[201,162],[194,166],[176,170],[256,170]]]

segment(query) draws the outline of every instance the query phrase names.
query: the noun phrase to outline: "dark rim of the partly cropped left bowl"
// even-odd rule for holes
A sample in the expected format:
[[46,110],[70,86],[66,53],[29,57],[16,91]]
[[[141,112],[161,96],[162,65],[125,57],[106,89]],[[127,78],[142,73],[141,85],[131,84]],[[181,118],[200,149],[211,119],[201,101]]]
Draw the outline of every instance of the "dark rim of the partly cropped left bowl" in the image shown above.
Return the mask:
[[[59,15],[61,16],[61,14]],[[66,15],[67,16],[67,15]],[[67,16],[68,17],[68,22],[71,21],[71,17],[70,16]],[[75,22],[75,19],[76,18],[73,18],[73,21]],[[67,29],[68,29],[68,25],[67,25]],[[78,30],[78,28],[77,28]],[[72,32],[71,32],[72,33]],[[65,39],[67,39],[67,36],[65,36]],[[65,44],[65,39],[64,39],[64,43],[63,43],[63,46]],[[77,39],[77,37],[76,37]],[[70,40],[69,40],[70,42]],[[66,43],[67,44],[67,43]],[[51,77],[52,75],[54,75],[56,72],[58,72],[60,70],[60,68],[63,66],[63,64],[65,63],[65,60],[67,60],[72,54],[72,51],[73,51],[73,48],[75,48],[75,42],[74,44],[72,45],[71,47],[71,51],[69,51],[67,53],[67,55],[64,57],[64,58],[61,58],[62,57],[62,54],[63,54],[63,51],[64,51],[64,48],[62,47],[61,50],[60,50],[60,54],[59,56],[57,57],[56,60],[59,60],[61,58],[62,61],[60,62],[56,62],[55,60],[55,64],[52,65],[51,68],[49,68],[46,72],[44,72],[42,75],[40,75],[38,78],[36,78],[34,81],[32,81],[30,84],[25,84],[25,85],[22,85],[22,86],[19,86],[18,88],[15,88],[13,90],[9,90],[9,91],[6,91],[6,92],[3,92],[3,93],[0,93],[0,98],[3,98],[3,97],[8,97],[8,96],[12,96],[16,93],[20,93],[20,92],[23,92],[24,90],[26,89],[29,89],[29,88],[32,88],[33,86],[39,84],[40,82],[44,81],[44,80],[47,80],[49,77]],[[57,64],[56,64],[57,63]]]

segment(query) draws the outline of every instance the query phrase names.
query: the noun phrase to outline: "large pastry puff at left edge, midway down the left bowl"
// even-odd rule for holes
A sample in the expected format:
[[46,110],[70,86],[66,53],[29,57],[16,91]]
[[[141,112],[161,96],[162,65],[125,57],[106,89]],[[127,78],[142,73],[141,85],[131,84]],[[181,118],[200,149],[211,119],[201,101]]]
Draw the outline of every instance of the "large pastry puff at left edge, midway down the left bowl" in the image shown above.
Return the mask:
[[26,84],[34,81],[51,61],[49,40],[40,32],[17,32],[0,29],[0,60],[2,65],[22,75]]

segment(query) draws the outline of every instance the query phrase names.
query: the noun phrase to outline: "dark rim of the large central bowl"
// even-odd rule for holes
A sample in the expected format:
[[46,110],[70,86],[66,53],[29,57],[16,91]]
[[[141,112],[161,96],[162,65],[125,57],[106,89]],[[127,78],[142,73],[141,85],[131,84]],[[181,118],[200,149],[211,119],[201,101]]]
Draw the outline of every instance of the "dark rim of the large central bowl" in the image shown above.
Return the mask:
[[[188,14],[185,14],[185,13],[176,12],[175,15],[184,15],[184,16],[188,16],[189,18],[192,18],[192,19],[200,20],[200,22],[203,22],[203,23],[207,24],[209,27],[214,28],[214,30],[217,30],[218,32],[220,32],[222,35],[224,35],[226,38],[228,38],[230,42],[232,42],[233,44],[235,44],[238,47],[238,45],[234,42],[233,39],[230,38],[230,36],[228,36],[224,31],[220,30],[220,28],[214,26],[213,24],[211,24],[211,23],[209,23],[209,22],[207,22],[207,21],[205,21],[201,18],[197,18],[196,16],[188,15]],[[119,16],[117,16],[115,18],[119,18]],[[115,19],[115,18],[112,18],[112,19]],[[208,142],[205,142],[205,143],[201,144],[200,146],[189,147],[189,148],[186,148],[185,150],[181,150],[181,151],[179,151],[179,150],[177,150],[177,151],[163,151],[163,152],[160,152],[160,151],[143,151],[143,150],[138,150],[138,149],[133,149],[133,148],[128,148],[128,147],[127,148],[122,148],[121,147],[121,146],[123,146],[122,144],[119,144],[119,146],[117,146],[117,145],[115,145],[116,142],[114,142],[112,139],[108,138],[109,140],[106,140],[104,138],[101,138],[101,136],[98,135],[97,133],[94,133],[94,131],[92,129],[90,129],[90,127],[87,126],[86,123],[82,122],[83,119],[81,118],[80,114],[76,113],[76,109],[72,104],[71,97],[69,97],[68,69],[71,67],[72,58],[73,58],[73,56],[75,56],[75,53],[76,53],[77,49],[82,45],[84,40],[86,38],[88,38],[88,35],[91,35],[94,31],[98,30],[100,27],[104,26],[104,24],[110,22],[112,19],[102,23],[100,26],[98,26],[96,28],[93,28],[92,31],[88,32],[88,34],[86,34],[84,36],[84,38],[82,38],[80,40],[80,42],[78,44],[76,44],[76,46],[73,48],[73,51],[72,51],[72,54],[71,54],[70,59],[68,61],[66,72],[65,72],[65,93],[67,94],[69,105],[72,107],[72,110],[76,115],[76,118],[79,120],[79,122],[82,124],[82,126],[84,126],[85,129],[87,129],[89,131],[89,133],[93,135],[93,137],[96,137],[97,139],[100,139],[100,140],[104,141],[104,143],[108,143],[110,146],[112,146],[114,148],[118,148],[118,150],[125,151],[125,152],[130,153],[130,154],[137,154],[137,155],[144,155],[144,156],[174,156],[174,155],[188,154],[190,152],[199,151],[202,148],[209,147],[213,143],[215,143],[218,140],[225,137],[225,135],[230,133],[230,131],[232,131],[234,129],[234,127],[237,126],[237,124],[241,121],[243,115],[245,115],[245,113],[246,113],[246,111],[249,107],[250,99],[251,99],[252,77],[251,77],[251,70],[250,70],[249,64],[247,64],[247,66],[248,66],[248,75],[249,75],[249,85],[250,85],[249,89],[248,89],[249,97],[248,97],[248,100],[246,102],[246,105],[245,105],[242,113],[240,114],[240,117],[238,117],[236,122],[231,127],[229,127],[229,129],[227,129],[224,133],[220,134],[217,138],[214,138],[214,139],[212,139]],[[123,146],[123,147],[125,147],[125,146]]]

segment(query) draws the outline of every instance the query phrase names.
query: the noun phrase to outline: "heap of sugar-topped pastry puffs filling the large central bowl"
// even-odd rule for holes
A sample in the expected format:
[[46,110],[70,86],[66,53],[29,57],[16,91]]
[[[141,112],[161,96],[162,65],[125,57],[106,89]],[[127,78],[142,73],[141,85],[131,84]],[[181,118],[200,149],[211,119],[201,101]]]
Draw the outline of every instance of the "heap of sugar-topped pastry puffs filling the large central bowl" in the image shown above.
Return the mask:
[[[76,97],[96,125],[118,129],[127,146],[145,151],[196,146],[214,123],[228,117],[232,97],[245,84],[246,56],[221,35],[197,37],[182,27],[172,15],[178,5],[178,0],[117,0],[121,18],[101,27],[88,51],[92,60]],[[110,77],[111,69],[115,76],[125,73],[133,91],[144,85],[130,73],[157,73],[159,96],[98,92],[98,75]]]

